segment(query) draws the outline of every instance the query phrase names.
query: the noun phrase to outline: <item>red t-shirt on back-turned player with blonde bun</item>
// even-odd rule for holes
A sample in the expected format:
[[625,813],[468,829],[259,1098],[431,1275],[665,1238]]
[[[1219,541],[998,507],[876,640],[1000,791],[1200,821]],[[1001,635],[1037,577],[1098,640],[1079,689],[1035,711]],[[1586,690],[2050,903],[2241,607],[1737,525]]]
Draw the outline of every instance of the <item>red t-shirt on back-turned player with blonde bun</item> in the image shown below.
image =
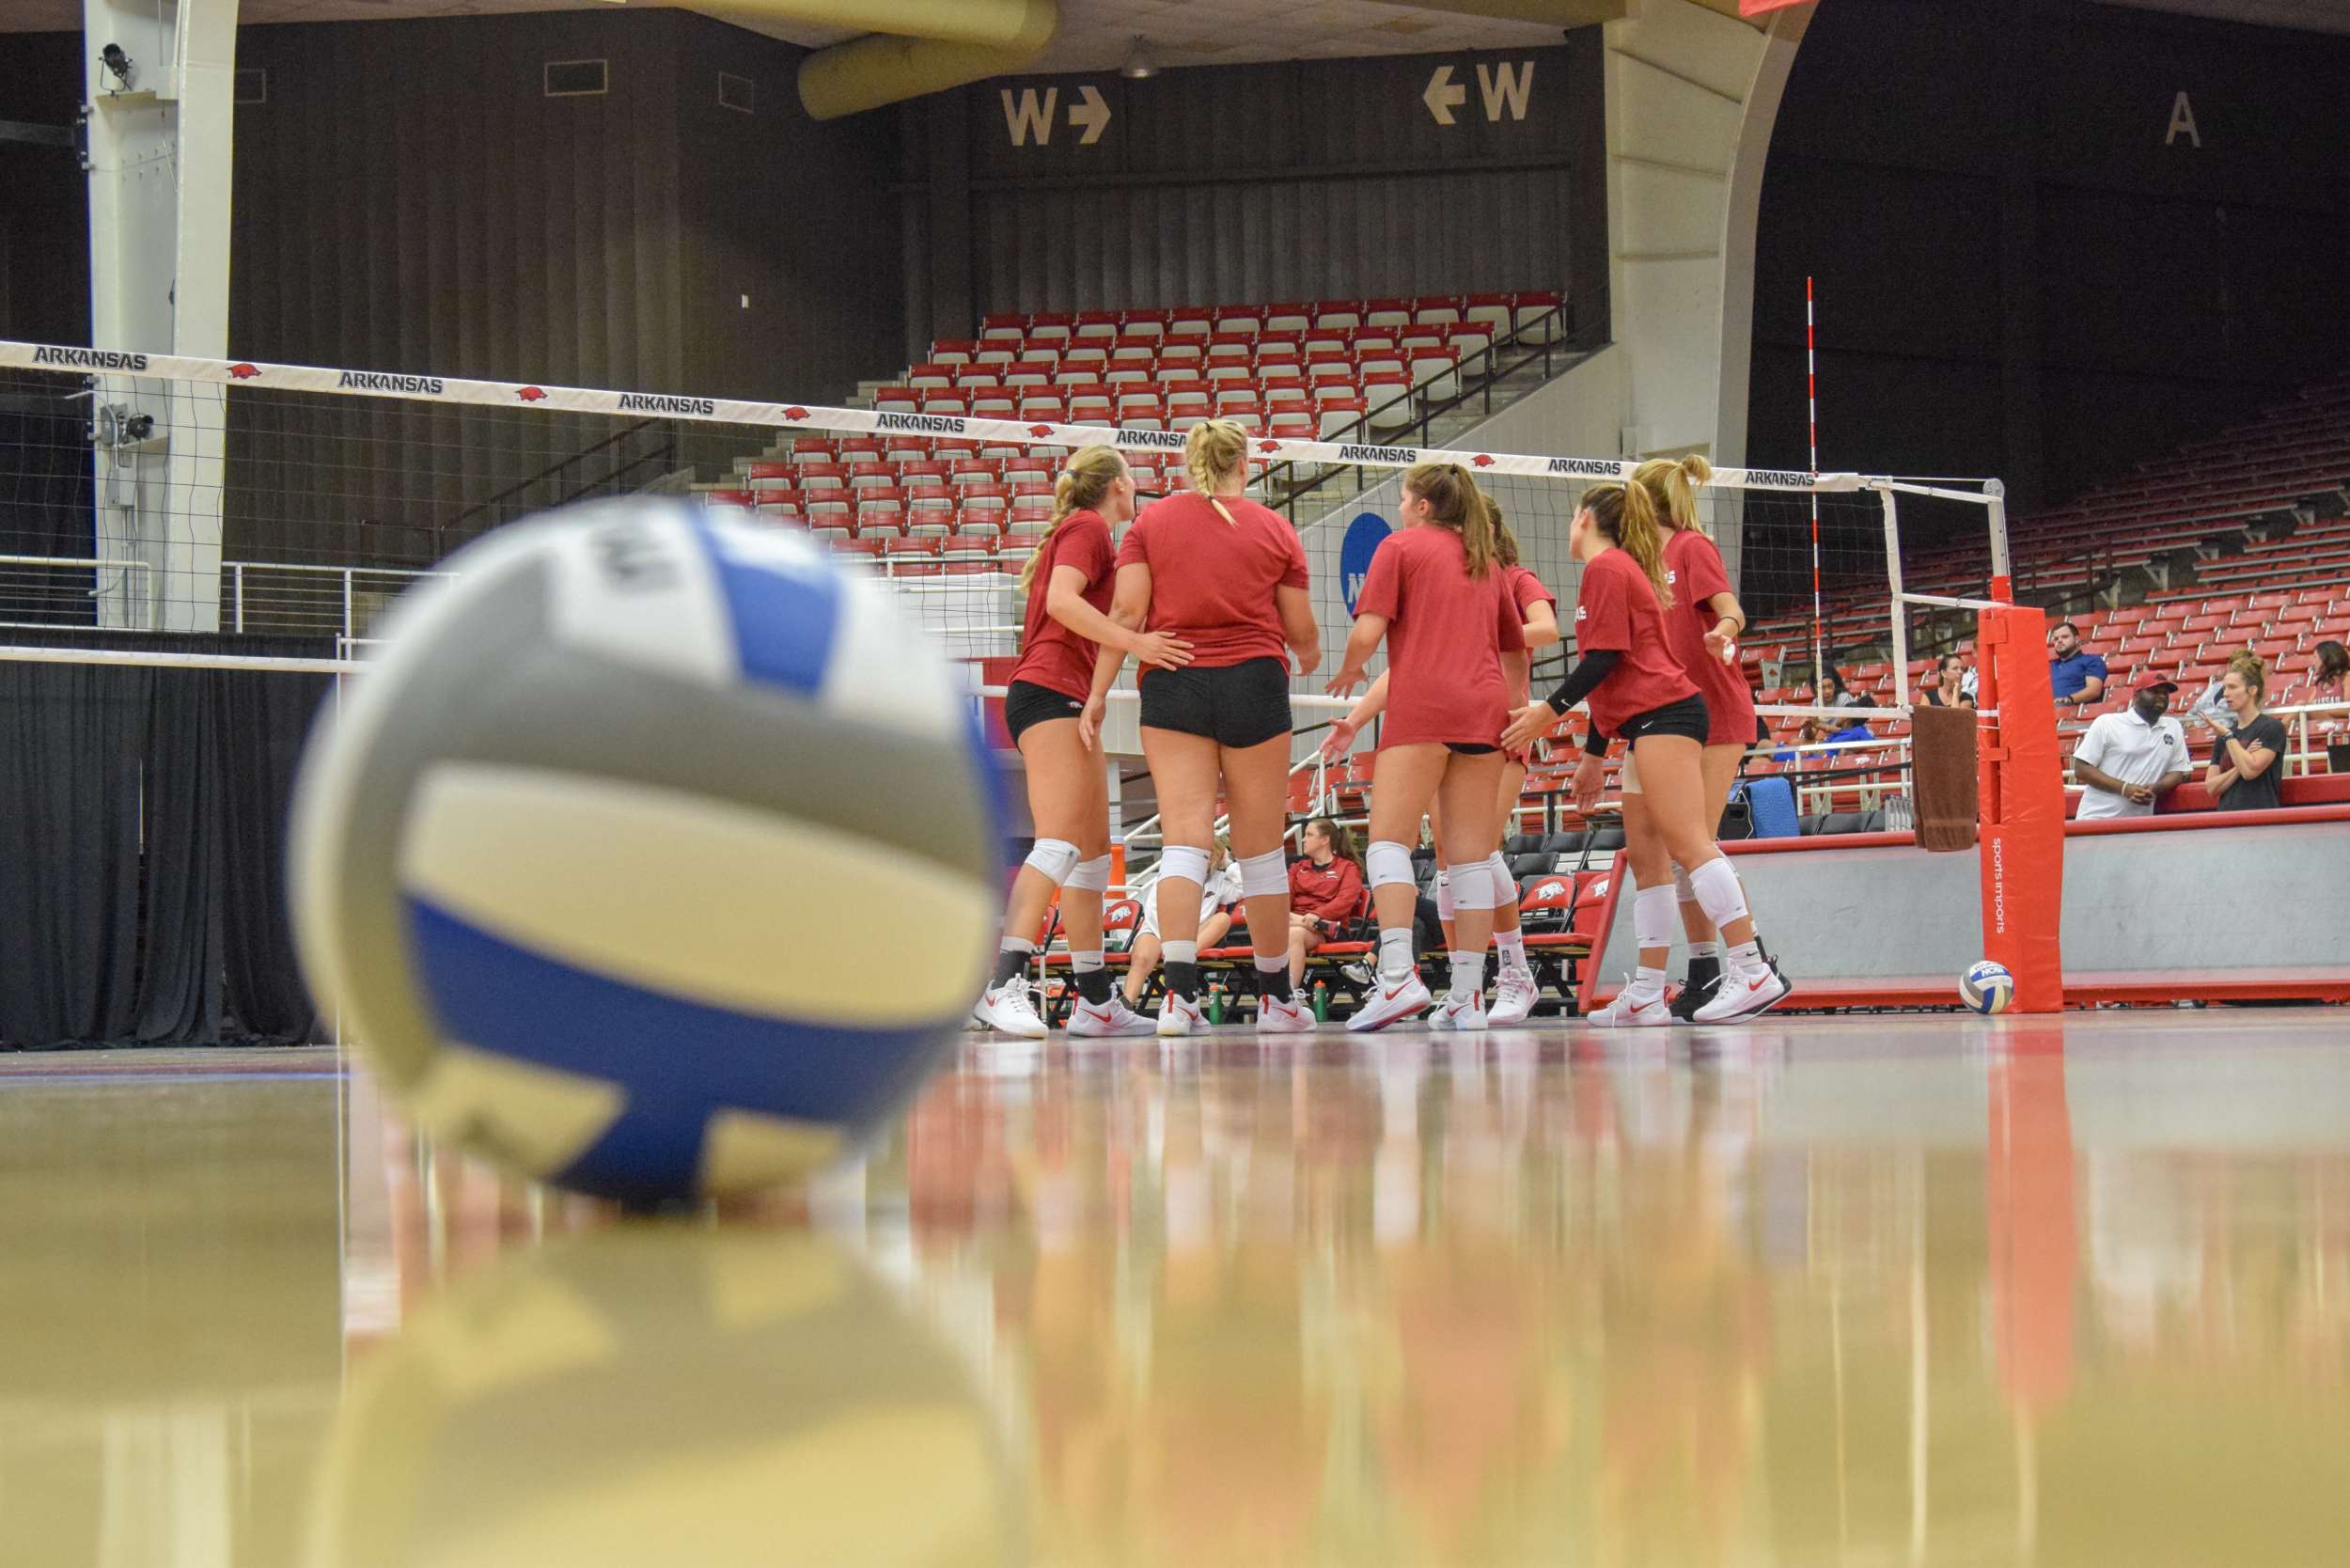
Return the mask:
[[1191,670],[1250,658],[1288,663],[1276,588],[1307,585],[1307,548],[1281,512],[1224,496],[1231,522],[1198,491],[1152,501],[1126,529],[1121,567],[1152,569],[1147,632],[1191,644]]

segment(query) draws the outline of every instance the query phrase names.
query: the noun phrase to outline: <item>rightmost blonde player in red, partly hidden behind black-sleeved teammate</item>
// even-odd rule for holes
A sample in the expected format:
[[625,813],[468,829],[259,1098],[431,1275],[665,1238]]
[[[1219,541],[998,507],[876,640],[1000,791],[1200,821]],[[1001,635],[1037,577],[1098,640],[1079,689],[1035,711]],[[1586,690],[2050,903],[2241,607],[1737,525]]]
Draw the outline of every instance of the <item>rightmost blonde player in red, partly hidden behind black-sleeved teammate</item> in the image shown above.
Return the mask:
[[[1718,813],[1730,804],[1739,759],[1755,743],[1755,693],[1746,684],[1746,670],[1739,668],[1737,637],[1746,630],[1746,609],[1730,590],[1723,552],[1713,548],[1697,517],[1694,487],[1713,477],[1713,465],[1694,454],[1650,458],[1633,468],[1631,477],[1647,489],[1657,522],[1664,524],[1664,583],[1673,590],[1673,609],[1664,614],[1664,637],[1680,670],[1706,698],[1711,729],[1699,766],[1706,776],[1706,799]],[[1626,783],[1626,844],[1636,830],[1647,827],[1645,816],[1640,797]],[[1690,978],[1673,999],[1673,1018],[1690,1020],[1697,1009],[1713,1001],[1723,983],[1723,940],[1680,865],[1673,867],[1673,891],[1680,898],[1680,929],[1690,938]]]

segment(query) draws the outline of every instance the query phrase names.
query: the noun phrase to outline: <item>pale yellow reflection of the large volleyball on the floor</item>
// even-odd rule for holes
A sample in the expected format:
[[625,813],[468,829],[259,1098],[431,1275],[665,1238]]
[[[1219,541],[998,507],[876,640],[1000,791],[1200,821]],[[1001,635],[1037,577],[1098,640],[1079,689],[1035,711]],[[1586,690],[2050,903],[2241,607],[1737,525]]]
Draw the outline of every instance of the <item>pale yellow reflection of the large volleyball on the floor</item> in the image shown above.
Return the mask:
[[357,1366],[313,1568],[1027,1561],[966,1366],[811,1232],[517,1253]]

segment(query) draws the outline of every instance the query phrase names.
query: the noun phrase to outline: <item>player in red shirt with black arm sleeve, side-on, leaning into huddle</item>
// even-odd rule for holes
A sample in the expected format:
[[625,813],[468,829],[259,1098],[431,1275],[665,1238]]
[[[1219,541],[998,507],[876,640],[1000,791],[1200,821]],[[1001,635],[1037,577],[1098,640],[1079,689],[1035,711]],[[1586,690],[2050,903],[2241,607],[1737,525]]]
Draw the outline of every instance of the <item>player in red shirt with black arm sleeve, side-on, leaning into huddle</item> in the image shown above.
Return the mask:
[[1591,736],[1574,769],[1574,804],[1591,809],[1600,797],[1600,762],[1607,738],[1624,736],[1626,802],[1643,797],[1654,832],[1631,837],[1626,809],[1624,851],[1640,891],[1631,900],[1640,973],[1591,1023],[1664,1025],[1673,1013],[1664,1001],[1664,964],[1673,954],[1673,860],[1690,867],[1690,891],[1732,943],[1720,990],[1697,1009],[1697,1023],[1730,1023],[1765,1011],[1788,994],[1788,983],[1762,959],[1746,891],[1730,858],[1713,846],[1720,804],[1706,795],[1704,745],[1713,733],[1706,698],[1683,672],[1666,639],[1664,616],[1673,592],[1664,581],[1664,529],[1643,484],[1593,484],[1574,512],[1567,536],[1584,583],[1574,604],[1574,642],[1582,663],[1542,703],[1511,715],[1509,745],[1532,745],[1574,703],[1591,701]]

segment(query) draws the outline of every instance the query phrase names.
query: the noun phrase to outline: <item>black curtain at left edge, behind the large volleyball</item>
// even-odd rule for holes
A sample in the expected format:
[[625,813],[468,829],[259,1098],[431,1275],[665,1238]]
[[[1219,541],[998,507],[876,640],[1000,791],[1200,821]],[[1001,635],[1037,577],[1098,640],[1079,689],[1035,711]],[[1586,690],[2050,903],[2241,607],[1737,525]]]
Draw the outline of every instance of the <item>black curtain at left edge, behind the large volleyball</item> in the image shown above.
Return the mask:
[[[270,637],[103,646],[331,656]],[[317,1037],[294,964],[284,823],[329,686],[0,661],[0,1044]]]

